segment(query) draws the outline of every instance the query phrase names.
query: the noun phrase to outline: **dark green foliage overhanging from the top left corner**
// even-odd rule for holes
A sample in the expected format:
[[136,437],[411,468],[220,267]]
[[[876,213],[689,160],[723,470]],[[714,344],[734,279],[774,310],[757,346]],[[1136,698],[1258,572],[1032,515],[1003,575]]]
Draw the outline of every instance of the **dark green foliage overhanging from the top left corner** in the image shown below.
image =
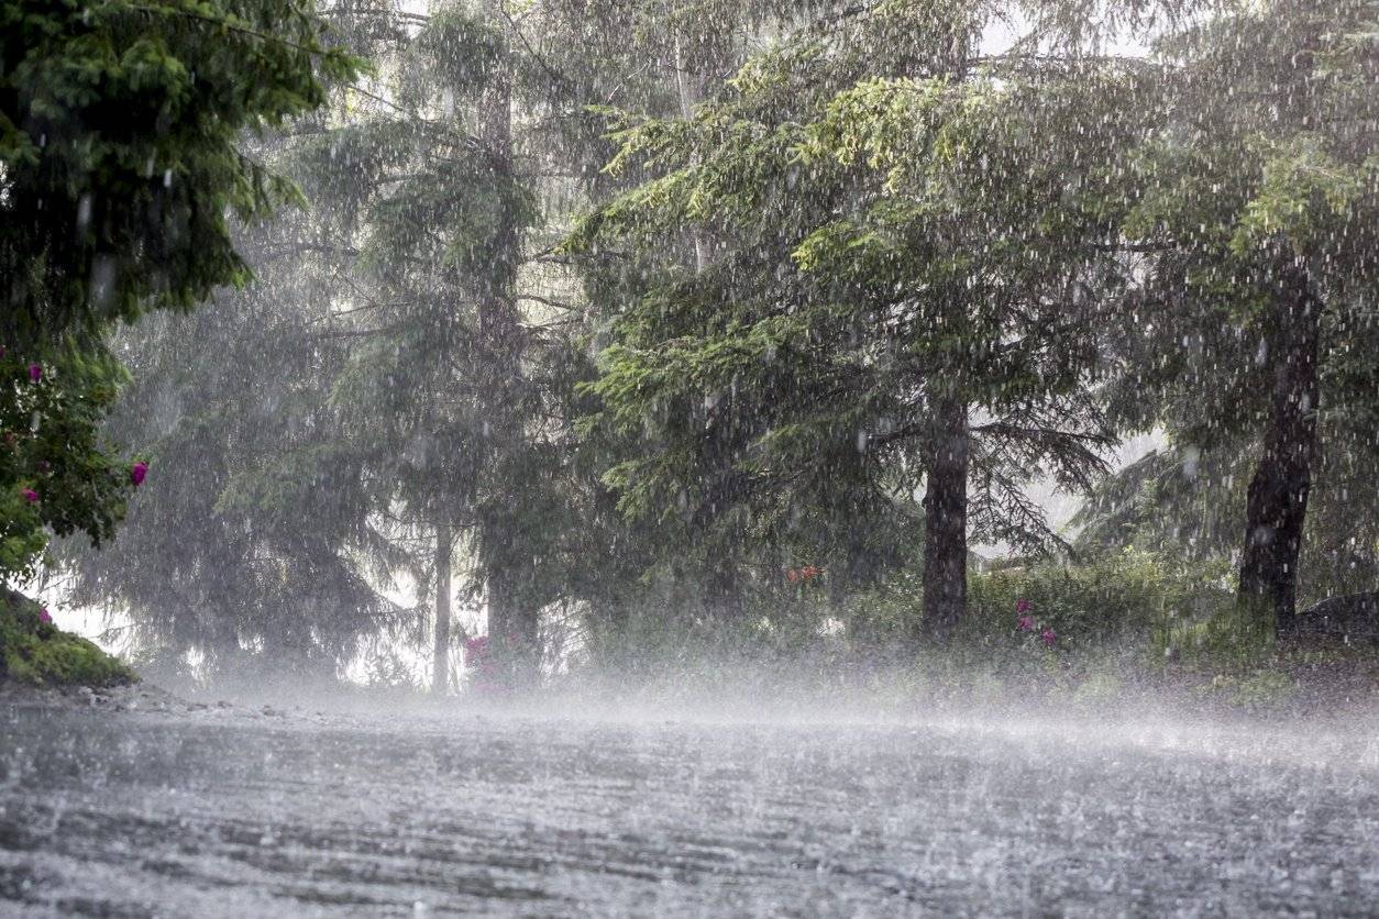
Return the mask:
[[296,0],[7,0],[0,36],[0,339],[26,349],[247,280],[226,216],[291,187],[240,134],[359,69]]

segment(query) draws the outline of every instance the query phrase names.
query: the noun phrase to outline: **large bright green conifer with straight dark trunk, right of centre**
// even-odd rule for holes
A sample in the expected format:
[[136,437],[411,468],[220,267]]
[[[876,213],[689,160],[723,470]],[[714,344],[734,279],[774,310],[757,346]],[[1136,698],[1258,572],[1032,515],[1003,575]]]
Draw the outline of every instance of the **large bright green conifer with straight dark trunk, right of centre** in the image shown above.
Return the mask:
[[923,488],[938,641],[969,529],[1047,546],[1022,485],[1088,486],[1113,437],[1087,386],[1100,293],[1125,284],[1096,169],[1151,74],[1066,32],[983,54],[1009,11],[830,11],[694,118],[629,120],[611,168],[655,178],[572,242],[643,267],[683,226],[716,241],[607,306],[600,417],[650,433],[608,475],[625,510],[729,522],[847,495],[834,513],[876,519]]

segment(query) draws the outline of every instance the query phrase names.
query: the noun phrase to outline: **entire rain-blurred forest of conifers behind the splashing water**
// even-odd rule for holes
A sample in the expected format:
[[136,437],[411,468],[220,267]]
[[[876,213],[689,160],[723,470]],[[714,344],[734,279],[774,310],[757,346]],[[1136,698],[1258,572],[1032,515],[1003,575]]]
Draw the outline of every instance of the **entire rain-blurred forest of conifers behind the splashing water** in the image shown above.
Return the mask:
[[183,6],[94,190],[0,51],[0,575],[146,672],[1379,638],[1379,3]]

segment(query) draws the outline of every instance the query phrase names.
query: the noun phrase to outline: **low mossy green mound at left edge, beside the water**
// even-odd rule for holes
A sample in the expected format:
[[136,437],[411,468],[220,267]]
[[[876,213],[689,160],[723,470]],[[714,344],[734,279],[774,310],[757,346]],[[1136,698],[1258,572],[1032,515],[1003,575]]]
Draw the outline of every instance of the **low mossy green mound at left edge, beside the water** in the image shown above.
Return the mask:
[[84,638],[40,619],[39,603],[0,592],[0,681],[34,686],[114,686],[138,679]]

